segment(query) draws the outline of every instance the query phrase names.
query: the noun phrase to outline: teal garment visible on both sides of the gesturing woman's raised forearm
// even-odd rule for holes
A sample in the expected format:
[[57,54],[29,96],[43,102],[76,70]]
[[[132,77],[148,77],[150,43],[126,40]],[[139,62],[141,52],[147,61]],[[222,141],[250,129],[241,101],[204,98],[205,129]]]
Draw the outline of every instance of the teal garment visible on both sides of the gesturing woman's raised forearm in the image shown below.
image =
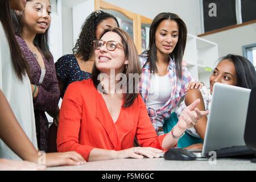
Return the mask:
[[[164,121],[164,126],[163,126],[164,133],[169,133],[172,127],[174,127],[178,121],[179,119],[177,118],[177,114],[172,113],[171,117]],[[179,139],[177,143],[177,147],[184,148],[184,147],[191,146],[192,144],[195,144],[195,143],[203,143],[203,142],[204,141],[202,139],[193,137],[192,135],[189,135],[187,132],[185,132],[183,137]]]

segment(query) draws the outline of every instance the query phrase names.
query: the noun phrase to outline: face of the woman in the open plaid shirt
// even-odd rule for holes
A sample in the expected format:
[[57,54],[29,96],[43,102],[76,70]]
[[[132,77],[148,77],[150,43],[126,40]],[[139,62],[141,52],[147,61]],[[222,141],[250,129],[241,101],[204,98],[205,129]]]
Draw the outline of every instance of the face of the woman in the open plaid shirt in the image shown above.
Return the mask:
[[179,26],[174,20],[163,20],[155,32],[158,53],[169,55],[179,40]]

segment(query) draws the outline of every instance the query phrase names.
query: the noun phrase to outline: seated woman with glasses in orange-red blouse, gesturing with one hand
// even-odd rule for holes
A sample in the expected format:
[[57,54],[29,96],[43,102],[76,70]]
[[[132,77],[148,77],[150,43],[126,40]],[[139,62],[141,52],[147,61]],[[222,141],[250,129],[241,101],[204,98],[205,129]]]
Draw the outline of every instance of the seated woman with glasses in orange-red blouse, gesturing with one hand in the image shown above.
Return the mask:
[[[114,28],[105,30],[101,40],[94,41],[94,48],[92,78],[73,82],[65,92],[58,151],[76,151],[86,161],[159,158],[162,150],[176,146],[185,130],[208,114],[196,109],[200,101],[196,100],[183,110],[174,130],[158,137],[138,94],[136,75],[139,78],[141,69],[133,40]],[[142,147],[133,147],[135,137]]]

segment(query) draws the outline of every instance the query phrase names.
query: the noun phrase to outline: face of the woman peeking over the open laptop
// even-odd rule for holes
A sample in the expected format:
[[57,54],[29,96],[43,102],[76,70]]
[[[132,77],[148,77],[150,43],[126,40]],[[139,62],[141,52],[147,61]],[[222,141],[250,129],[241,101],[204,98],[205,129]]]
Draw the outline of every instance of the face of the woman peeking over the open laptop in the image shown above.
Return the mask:
[[218,63],[217,67],[210,76],[210,94],[212,94],[213,85],[216,82],[228,85],[237,85],[236,68],[232,61],[224,59]]

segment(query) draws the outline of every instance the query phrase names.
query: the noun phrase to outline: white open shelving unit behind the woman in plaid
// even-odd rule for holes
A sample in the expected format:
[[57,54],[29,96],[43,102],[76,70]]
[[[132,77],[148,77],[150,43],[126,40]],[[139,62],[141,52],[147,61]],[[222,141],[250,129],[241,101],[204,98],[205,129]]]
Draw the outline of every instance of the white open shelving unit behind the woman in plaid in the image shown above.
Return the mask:
[[188,34],[183,61],[191,75],[209,88],[209,77],[218,59],[218,45]]

